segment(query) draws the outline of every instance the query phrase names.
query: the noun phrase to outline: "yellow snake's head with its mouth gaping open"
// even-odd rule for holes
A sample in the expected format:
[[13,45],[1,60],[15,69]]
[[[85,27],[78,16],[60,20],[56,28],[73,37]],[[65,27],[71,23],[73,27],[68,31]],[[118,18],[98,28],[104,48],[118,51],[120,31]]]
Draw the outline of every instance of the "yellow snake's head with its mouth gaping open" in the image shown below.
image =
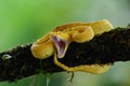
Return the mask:
[[63,58],[70,43],[69,34],[62,31],[51,32],[50,34],[50,39],[54,43],[55,48],[57,49],[57,57]]

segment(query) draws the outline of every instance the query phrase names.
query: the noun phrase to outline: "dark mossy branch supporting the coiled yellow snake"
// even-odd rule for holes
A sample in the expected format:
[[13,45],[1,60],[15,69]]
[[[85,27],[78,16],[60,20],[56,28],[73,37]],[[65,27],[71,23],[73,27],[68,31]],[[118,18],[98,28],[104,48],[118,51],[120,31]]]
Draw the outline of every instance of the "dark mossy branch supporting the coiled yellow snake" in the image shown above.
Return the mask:
[[[43,71],[43,73],[62,72],[53,63],[53,56],[36,59],[30,52],[31,44],[21,45],[0,53],[0,81],[14,81]],[[68,67],[80,64],[104,64],[130,60],[130,26],[116,28],[87,43],[72,43],[66,56],[58,59]]]

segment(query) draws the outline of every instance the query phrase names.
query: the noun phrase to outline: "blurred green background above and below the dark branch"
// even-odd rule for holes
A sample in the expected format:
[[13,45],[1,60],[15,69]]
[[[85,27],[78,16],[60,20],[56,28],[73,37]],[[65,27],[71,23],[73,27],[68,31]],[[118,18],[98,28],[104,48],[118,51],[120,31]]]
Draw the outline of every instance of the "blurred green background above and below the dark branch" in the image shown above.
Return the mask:
[[[130,0],[0,0],[0,52],[31,43],[55,26],[69,22],[106,18],[114,27],[130,24]],[[50,86],[130,86],[130,62],[116,62],[108,72],[94,75],[76,72],[51,75]],[[39,85],[39,82],[40,83]],[[44,86],[43,75],[0,86]]]

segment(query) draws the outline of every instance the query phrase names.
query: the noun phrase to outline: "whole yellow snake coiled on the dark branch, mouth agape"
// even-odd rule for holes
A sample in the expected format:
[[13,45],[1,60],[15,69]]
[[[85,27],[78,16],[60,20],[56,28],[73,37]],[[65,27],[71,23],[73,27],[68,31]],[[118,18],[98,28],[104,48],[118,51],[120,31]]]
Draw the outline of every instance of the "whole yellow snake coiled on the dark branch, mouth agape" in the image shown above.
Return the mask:
[[109,69],[109,64],[82,64],[69,68],[60,62],[57,58],[64,58],[72,42],[88,42],[94,37],[112,30],[112,28],[113,26],[107,19],[91,23],[69,23],[54,28],[51,32],[38,39],[30,51],[34,57],[38,59],[46,59],[54,55],[54,63],[66,71],[104,73]]

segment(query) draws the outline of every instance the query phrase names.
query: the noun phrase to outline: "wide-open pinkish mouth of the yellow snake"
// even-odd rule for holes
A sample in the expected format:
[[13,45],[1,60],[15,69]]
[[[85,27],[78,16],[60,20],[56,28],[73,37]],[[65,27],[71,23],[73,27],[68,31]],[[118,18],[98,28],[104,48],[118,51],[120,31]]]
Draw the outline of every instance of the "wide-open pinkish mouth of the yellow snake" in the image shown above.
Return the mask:
[[67,41],[60,39],[58,37],[52,35],[51,40],[54,42],[54,45],[57,49],[58,58],[63,58],[67,47]]

